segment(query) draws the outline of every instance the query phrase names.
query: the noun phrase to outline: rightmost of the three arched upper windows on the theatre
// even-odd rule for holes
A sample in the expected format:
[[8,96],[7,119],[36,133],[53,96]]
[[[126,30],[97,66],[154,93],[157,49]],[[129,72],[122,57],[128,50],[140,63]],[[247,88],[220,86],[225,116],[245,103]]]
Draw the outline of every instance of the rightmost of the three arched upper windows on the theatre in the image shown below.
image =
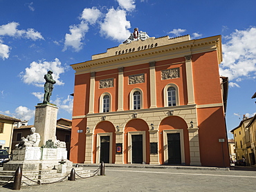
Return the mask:
[[164,105],[179,106],[179,88],[176,84],[167,84],[163,89]]

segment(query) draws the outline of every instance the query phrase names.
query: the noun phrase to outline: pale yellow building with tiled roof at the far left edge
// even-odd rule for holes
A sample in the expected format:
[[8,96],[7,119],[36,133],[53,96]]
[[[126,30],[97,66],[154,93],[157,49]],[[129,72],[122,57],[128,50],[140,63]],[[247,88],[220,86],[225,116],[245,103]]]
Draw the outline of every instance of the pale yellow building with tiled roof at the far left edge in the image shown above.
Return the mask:
[[0,114],[0,148],[6,149],[8,153],[10,153],[12,145],[14,124],[17,122],[21,122],[21,120]]

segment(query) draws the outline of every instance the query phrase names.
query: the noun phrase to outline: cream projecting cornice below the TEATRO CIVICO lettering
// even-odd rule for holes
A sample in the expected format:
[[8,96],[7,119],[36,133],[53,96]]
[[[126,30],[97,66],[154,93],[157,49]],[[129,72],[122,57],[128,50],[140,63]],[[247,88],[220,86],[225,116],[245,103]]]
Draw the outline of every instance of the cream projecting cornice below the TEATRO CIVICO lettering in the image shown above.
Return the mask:
[[176,44],[168,44],[165,46],[138,50],[121,55],[94,59],[79,64],[72,64],[71,66],[76,71],[76,75],[78,75],[82,73],[89,73],[91,71],[97,72],[100,70],[146,64],[151,61],[162,61],[165,59],[185,57],[186,55],[210,52],[213,50],[217,50],[217,57],[220,64],[222,61],[221,35],[182,41]]

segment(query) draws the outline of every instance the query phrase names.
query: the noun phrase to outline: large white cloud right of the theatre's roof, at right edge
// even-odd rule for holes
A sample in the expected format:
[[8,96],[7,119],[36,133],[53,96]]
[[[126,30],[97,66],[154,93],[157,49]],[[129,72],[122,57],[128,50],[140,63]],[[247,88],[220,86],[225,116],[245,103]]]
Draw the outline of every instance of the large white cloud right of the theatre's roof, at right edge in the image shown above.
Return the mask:
[[[235,30],[222,45],[223,62],[220,65],[220,75],[229,80],[255,78],[256,72],[256,28]],[[239,79],[240,78],[240,79]]]

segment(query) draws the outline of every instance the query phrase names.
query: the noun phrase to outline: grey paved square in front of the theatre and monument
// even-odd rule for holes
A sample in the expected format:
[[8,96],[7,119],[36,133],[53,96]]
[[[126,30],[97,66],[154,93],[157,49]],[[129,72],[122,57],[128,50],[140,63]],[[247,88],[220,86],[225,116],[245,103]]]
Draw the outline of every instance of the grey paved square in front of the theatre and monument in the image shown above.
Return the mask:
[[[84,167],[94,171],[95,167]],[[242,168],[239,170],[243,170]],[[252,169],[253,170],[253,169]],[[255,170],[255,169],[254,169]],[[105,175],[22,186],[25,191],[256,191],[256,171],[106,167]],[[0,191],[11,191],[0,186]]]

